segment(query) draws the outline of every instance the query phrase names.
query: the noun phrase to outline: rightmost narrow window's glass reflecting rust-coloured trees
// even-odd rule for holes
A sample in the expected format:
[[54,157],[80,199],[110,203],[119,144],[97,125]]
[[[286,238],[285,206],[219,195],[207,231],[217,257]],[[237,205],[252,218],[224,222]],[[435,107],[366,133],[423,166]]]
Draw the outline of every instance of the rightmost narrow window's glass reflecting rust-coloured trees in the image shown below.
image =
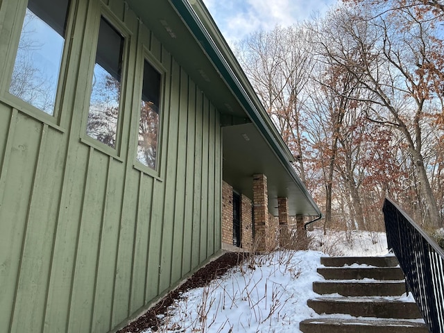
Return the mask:
[[145,60],[137,160],[152,169],[156,167],[157,158],[160,80],[161,76],[159,72]]

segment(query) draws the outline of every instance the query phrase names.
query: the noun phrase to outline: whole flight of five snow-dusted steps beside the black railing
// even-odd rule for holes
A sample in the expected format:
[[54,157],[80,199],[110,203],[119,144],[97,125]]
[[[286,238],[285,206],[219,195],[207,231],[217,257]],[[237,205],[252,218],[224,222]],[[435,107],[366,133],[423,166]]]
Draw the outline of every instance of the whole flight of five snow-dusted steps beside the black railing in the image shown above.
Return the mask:
[[303,333],[428,333],[416,303],[408,300],[394,256],[323,257],[307,301],[320,318],[300,322]]

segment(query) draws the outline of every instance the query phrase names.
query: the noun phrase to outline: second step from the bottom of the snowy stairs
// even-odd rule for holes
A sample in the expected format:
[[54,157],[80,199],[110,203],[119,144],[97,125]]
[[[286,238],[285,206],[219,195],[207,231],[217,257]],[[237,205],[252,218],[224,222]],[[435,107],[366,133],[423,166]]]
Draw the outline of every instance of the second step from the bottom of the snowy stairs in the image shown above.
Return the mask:
[[382,297],[324,297],[307,301],[317,314],[350,314],[354,317],[422,318],[415,302]]

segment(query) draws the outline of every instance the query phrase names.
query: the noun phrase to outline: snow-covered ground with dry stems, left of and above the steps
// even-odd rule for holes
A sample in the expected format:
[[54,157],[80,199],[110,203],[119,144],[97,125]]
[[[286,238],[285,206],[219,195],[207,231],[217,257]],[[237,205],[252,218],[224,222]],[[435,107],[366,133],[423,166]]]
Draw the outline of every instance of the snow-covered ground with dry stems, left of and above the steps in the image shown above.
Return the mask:
[[[329,232],[324,236],[314,230],[309,235],[314,246],[328,255],[387,254],[384,233]],[[209,286],[182,294],[158,332],[298,333],[300,321],[319,316],[307,307],[307,300],[316,297],[312,282],[322,279],[316,273],[321,256],[325,253],[319,250],[283,250],[250,257]]]

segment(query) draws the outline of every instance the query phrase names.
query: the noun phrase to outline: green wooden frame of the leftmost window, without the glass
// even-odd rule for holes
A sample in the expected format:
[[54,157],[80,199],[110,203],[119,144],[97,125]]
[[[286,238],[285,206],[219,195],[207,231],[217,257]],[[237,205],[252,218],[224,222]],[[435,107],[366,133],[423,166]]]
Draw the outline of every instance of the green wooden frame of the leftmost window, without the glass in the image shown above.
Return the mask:
[[[63,112],[62,112],[62,101],[65,95],[65,86],[67,84],[67,68],[69,62],[69,53],[71,52],[72,44],[69,40],[74,23],[76,21],[76,7],[78,6],[78,0],[69,0],[67,17],[66,17],[66,28],[65,28],[65,40],[63,43],[62,56],[60,58],[60,68],[57,78],[56,87],[56,99],[54,99],[54,109],[53,114],[49,114],[35,107],[31,103],[20,99],[19,97],[11,94],[9,92],[10,82],[12,80],[12,72],[14,71],[15,60],[17,58],[19,40],[22,35],[22,28],[24,24],[24,19],[26,16],[26,9],[28,8],[28,1],[17,1],[16,3],[3,3],[1,10],[6,10],[6,17],[9,17],[4,22],[6,28],[0,29],[0,38],[3,40],[8,40],[9,43],[6,46],[6,51],[4,53],[0,49],[0,57],[3,53],[5,63],[8,65],[4,71],[4,75],[0,78],[0,100],[10,105],[12,108],[17,109],[42,123],[46,123],[51,128],[65,133],[66,129],[62,128]],[[8,24],[12,22],[11,24]],[[8,30],[10,28],[10,30]],[[10,31],[8,37],[5,34]],[[0,58],[1,60],[1,58]]]

